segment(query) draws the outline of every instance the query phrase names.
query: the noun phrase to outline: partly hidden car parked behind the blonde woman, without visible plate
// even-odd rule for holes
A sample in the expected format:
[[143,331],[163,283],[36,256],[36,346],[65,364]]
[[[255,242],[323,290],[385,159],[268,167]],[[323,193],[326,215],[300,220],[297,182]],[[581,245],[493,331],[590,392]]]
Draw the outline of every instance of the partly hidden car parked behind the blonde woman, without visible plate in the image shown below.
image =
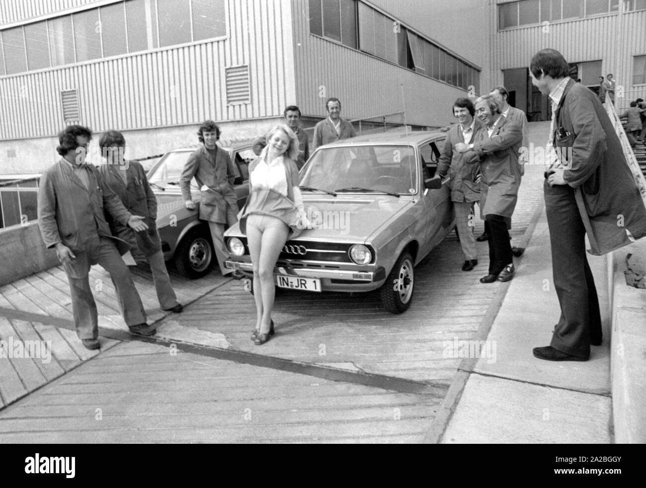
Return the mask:
[[[218,144],[229,153],[233,161],[236,170],[234,188],[238,206],[242,208],[249,195],[247,167],[256,158],[251,150],[251,141],[220,141]],[[180,190],[180,176],[186,161],[196,148],[169,151],[148,172],[148,180],[157,197],[157,228],[164,259],[174,261],[179,274],[191,279],[208,274],[215,261],[209,224],[198,218],[200,190],[196,181],[191,181],[195,210],[184,206]]]

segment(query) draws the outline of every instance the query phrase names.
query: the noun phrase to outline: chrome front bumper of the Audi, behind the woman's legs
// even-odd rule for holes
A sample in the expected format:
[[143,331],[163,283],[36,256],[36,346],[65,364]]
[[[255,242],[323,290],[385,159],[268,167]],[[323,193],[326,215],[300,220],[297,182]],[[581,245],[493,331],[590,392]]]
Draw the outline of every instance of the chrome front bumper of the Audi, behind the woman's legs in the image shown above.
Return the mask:
[[[253,265],[244,261],[224,262],[225,267],[237,269],[253,274]],[[377,267],[374,271],[356,271],[340,269],[315,269],[276,266],[274,276],[294,276],[299,278],[318,278],[321,280],[321,289],[329,291],[370,291],[379,288],[386,280],[384,267]]]

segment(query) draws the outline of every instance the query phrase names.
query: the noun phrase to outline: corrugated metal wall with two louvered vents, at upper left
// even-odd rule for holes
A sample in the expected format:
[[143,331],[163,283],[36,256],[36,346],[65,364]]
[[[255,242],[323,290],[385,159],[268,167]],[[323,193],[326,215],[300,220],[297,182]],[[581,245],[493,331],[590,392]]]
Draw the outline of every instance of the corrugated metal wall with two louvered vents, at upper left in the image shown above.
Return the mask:
[[[74,88],[79,122],[96,132],[280,116],[295,99],[290,8],[229,0],[229,39],[0,77],[0,139],[56,134],[60,92]],[[224,68],[240,65],[249,65],[251,103],[227,105]]]

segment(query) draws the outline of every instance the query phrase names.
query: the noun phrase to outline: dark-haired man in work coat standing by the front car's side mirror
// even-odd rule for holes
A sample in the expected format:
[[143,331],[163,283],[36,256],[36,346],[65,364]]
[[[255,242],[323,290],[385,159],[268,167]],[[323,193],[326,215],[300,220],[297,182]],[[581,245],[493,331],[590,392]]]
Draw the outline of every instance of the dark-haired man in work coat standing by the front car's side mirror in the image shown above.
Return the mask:
[[444,178],[450,176],[448,186],[451,188],[451,201],[455,211],[457,232],[464,258],[463,271],[470,271],[478,263],[475,249],[474,202],[480,199],[480,183],[476,182],[480,172],[478,165],[469,164],[466,158],[472,158],[477,163],[479,158],[475,152],[461,154],[453,151],[457,143],[470,144],[474,141],[475,133],[482,127],[481,121],[474,119],[475,107],[468,98],[458,98],[453,103],[453,116],[458,123],[453,125],[446,134],[442,154],[437,165],[437,175]]

